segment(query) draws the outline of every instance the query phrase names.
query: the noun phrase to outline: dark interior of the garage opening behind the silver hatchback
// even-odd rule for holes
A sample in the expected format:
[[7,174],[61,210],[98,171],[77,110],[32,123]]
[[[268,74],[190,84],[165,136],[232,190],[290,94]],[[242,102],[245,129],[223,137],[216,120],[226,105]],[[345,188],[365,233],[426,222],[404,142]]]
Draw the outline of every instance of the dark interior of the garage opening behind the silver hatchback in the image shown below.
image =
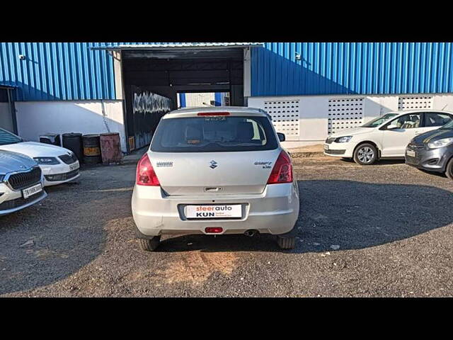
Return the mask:
[[226,92],[231,106],[244,105],[243,48],[122,50],[121,60],[130,149],[149,144],[178,93]]

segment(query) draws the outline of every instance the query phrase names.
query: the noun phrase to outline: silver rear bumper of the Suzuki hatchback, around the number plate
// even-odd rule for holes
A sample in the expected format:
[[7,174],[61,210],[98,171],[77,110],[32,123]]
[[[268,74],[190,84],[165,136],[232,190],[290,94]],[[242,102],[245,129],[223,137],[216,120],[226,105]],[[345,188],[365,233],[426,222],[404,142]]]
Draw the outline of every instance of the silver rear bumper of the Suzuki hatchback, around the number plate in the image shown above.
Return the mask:
[[[242,205],[239,220],[187,220],[190,204]],[[294,227],[299,215],[297,183],[272,184],[259,195],[164,196],[160,187],[135,186],[132,215],[139,237],[160,234],[205,234],[206,227],[222,227],[222,234],[242,234],[248,229],[260,233],[284,234]]]

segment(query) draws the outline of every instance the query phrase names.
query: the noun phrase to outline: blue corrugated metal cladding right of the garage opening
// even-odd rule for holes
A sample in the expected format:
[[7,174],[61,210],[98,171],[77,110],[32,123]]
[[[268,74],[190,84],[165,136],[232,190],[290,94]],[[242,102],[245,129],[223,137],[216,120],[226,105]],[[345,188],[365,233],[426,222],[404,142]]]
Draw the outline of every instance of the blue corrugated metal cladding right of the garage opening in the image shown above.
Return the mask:
[[453,92],[452,62],[447,42],[267,42],[253,47],[251,93]]

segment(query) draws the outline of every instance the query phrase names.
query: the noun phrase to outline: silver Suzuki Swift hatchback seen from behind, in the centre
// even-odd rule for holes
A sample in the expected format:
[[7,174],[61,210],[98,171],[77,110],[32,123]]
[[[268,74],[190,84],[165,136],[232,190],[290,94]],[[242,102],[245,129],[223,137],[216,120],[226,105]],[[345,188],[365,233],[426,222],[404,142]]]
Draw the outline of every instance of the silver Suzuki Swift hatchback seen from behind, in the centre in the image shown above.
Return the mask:
[[142,249],[162,234],[277,235],[294,248],[299,188],[270,116],[257,108],[164,115],[137,164],[132,214]]

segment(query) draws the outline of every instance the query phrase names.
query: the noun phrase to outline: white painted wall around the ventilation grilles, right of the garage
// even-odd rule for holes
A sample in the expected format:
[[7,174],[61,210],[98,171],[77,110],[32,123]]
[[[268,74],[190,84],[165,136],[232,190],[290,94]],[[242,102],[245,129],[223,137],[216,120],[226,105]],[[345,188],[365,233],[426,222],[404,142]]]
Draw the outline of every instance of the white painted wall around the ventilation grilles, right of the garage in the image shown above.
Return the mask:
[[[416,95],[328,95],[328,96],[272,96],[249,97],[248,107],[265,110],[265,101],[299,101],[299,137],[284,142],[284,147],[320,144],[328,136],[328,101],[331,98],[364,98],[364,123],[390,111],[398,111],[399,96]],[[432,109],[453,111],[453,94],[428,94],[432,96]]]

